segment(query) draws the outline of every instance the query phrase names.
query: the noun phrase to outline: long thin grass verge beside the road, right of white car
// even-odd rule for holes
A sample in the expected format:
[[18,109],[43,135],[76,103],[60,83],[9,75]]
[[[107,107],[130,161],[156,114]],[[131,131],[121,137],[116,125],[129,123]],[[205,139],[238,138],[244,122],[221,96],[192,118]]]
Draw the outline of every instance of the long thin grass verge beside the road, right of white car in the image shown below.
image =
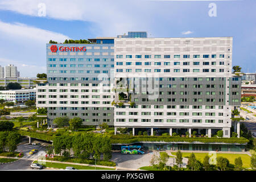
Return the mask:
[[[38,161],[35,160],[33,163],[38,163]],[[50,162],[46,162],[46,164],[43,164],[42,166],[58,168],[58,169],[65,169],[66,167],[74,167],[76,169],[83,169],[83,170],[94,170],[95,169],[95,167],[92,167],[92,166],[79,166],[79,165],[72,165],[72,164],[61,164],[61,163],[50,163]],[[96,167],[96,170],[115,170],[115,169]]]

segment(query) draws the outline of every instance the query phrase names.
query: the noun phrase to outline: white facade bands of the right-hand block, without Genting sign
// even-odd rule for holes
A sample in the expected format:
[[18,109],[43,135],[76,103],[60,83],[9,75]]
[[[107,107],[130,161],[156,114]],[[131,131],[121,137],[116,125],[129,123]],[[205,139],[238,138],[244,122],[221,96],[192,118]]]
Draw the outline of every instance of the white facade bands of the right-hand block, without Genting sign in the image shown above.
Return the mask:
[[[115,39],[114,47],[115,78],[210,77],[229,79],[232,77],[232,44],[233,38],[231,37],[117,38]],[[131,58],[126,55],[131,55]],[[141,58],[136,58],[137,55],[141,55]],[[149,58],[145,58],[146,56],[144,55],[148,55]],[[164,55],[170,55],[170,58],[165,58]],[[183,55],[185,56],[183,57]],[[196,58],[197,56],[194,57],[194,55],[199,55],[199,58]],[[212,55],[215,56],[212,57]],[[127,62],[130,62],[130,65],[126,65]],[[138,63],[138,65],[136,65],[136,62],[141,62],[142,64]],[[144,64],[145,62],[147,62],[147,65]],[[196,65],[194,65],[195,63]],[[229,82],[229,80],[227,81]],[[170,88],[170,91],[171,90]],[[189,89],[189,92],[192,92],[192,90],[193,89]],[[207,91],[207,89],[204,91]],[[157,89],[154,90],[154,92],[159,94]],[[179,93],[176,94],[179,95]],[[214,94],[218,94],[217,88]],[[143,109],[141,104],[139,104],[137,108],[126,107],[124,109],[117,106],[114,110],[114,126],[166,127],[169,129],[222,129],[224,130],[224,137],[229,137],[230,127],[232,125],[230,119],[232,108],[229,105],[229,84],[225,85],[225,94],[225,105],[214,105],[213,109],[209,109],[209,105],[212,104],[195,104],[200,105],[200,109],[192,109],[192,104],[186,104],[188,109],[180,109],[180,105],[175,105],[175,109],[167,109],[166,104],[159,104],[162,105],[161,109],[155,109],[155,105],[148,105],[147,107],[150,108]],[[174,97],[180,99],[179,96]],[[204,98],[200,96],[199,99],[204,100]],[[134,112],[137,115],[134,115]],[[124,113],[125,115],[122,115]],[[159,113],[161,115],[158,115]],[[175,113],[175,115],[167,115],[168,113]],[[193,113],[199,113],[199,115],[194,115]],[[137,119],[136,122],[134,122],[133,119]],[[155,119],[162,120],[155,121]],[[200,122],[193,122],[195,119],[199,119]],[[210,123],[213,120],[214,123]]]

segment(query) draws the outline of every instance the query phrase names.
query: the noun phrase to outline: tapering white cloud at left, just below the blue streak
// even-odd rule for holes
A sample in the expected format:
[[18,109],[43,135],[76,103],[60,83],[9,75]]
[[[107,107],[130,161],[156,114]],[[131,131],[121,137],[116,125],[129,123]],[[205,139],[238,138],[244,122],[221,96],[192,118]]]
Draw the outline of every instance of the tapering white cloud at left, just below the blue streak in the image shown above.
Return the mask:
[[9,36],[15,36],[18,38],[32,39],[39,42],[49,42],[49,40],[55,40],[57,42],[64,42],[65,39],[69,39],[68,36],[43,30],[40,28],[27,26],[22,23],[5,23],[0,20],[0,32]]

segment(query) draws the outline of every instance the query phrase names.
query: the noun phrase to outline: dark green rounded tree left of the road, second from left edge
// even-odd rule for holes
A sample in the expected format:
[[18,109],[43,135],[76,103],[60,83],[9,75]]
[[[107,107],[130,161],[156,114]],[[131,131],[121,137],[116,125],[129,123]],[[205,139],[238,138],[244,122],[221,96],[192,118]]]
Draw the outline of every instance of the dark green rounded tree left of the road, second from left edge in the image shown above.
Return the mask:
[[17,145],[22,141],[22,137],[15,131],[10,131],[6,137],[6,147],[9,152],[14,152],[17,149]]

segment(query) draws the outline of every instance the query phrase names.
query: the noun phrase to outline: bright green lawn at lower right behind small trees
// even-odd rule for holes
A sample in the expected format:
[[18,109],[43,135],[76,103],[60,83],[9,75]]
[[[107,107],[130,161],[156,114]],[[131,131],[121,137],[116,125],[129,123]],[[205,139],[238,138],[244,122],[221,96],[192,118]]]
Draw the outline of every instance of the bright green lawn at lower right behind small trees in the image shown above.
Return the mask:
[[[196,159],[200,160],[203,162],[205,155],[208,155],[208,153],[195,153]],[[172,152],[172,155],[176,155],[176,152]],[[182,152],[183,158],[188,158],[191,155],[191,152]],[[241,157],[242,162],[243,162],[243,167],[249,168],[250,167],[250,156],[247,154],[217,154],[218,156],[222,156],[224,158],[227,158],[230,162],[230,164],[234,164],[234,160],[236,158]]]

